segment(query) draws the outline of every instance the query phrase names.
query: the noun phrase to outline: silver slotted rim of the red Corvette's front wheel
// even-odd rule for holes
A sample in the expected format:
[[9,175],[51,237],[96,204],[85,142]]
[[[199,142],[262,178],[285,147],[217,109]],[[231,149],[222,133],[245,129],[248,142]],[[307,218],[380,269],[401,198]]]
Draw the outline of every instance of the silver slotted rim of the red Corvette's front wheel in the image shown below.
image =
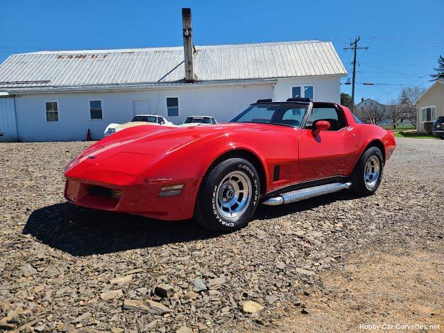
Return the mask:
[[238,219],[250,205],[252,187],[250,178],[242,171],[232,171],[219,183],[216,191],[216,207],[220,216],[227,220]]

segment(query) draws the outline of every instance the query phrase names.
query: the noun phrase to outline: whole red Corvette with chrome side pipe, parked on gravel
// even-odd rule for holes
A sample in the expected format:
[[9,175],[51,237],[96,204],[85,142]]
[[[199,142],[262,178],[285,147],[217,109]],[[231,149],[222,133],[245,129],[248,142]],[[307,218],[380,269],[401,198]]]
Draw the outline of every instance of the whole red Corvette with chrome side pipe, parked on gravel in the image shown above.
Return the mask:
[[259,100],[228,123],[136,126],[87,148],[65,169],[75,205],[230,232],[259,203],[281,205],[379,186],[393,133],[341,105]]

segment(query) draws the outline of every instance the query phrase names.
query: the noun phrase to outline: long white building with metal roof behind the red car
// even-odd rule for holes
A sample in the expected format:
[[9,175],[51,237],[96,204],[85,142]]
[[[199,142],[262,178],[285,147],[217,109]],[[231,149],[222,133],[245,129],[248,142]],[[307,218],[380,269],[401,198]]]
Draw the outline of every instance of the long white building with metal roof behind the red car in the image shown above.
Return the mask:
[[193,83],[184,63],[183,47],[14,54],[0,65],[0,141],[100,139],[134,114],[223,122],[257,99],[339,103],[346,75],[320,41],[196,46]]

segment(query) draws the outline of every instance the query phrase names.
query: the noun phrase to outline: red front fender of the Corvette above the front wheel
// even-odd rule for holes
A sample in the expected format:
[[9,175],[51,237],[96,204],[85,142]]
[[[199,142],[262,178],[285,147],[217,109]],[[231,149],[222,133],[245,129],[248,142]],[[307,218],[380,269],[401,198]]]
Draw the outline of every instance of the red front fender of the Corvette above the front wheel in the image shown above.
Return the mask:
[[[296,174],[298,141],[294,128],[251,133],[223,133],[198,139],[170,151],[151,166],[144,178],[202,178],[222,155],[231,151],[254,154],[265,171],[266,191],[291,182]],[[276,164],[281,166],[282,180],[273,182],[270,175]]]

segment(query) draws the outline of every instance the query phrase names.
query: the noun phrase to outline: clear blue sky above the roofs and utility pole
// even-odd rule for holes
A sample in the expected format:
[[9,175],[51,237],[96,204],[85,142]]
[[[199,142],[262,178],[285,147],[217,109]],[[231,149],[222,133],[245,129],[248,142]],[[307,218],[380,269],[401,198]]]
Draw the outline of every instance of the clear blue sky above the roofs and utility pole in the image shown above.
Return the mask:
[[[444,1],[135,1],[3,0],[0,62],[11,53],[60,49],[180,46],[180,8],[191,7],[194,44],[330,40],[351,79],[359,46],[355,101],[390,101],[403,85],[427,87],[444,56]],[[346,82],[347,78],[343,78]],[[350,93],[350,85],[341,85]]]

